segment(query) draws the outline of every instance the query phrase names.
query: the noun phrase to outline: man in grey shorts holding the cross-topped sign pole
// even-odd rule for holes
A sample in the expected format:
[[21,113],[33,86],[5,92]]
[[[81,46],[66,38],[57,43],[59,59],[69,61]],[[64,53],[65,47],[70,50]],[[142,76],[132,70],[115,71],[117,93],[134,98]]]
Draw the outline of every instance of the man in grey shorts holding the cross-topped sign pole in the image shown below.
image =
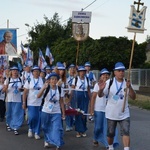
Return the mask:
[[[117,123],[120,124],[124,150],[130,149],[130,112],[128,96],[134,100],[136,98],[136,94],[130,81],[126,81],[124,76],[125,66],[122,62],[117,62],[114,67],[114,77],[99,84],[98,96],[108,96],[105,111],[107,118],[107,138],[109,150],[114,150],[113,141]],[[109,87],[110,82],[112,82],[112,84]],[[127,96],[125,97],[126,94]],[[124,107],[125,98],[125,110],[123,111],[122,108]]]

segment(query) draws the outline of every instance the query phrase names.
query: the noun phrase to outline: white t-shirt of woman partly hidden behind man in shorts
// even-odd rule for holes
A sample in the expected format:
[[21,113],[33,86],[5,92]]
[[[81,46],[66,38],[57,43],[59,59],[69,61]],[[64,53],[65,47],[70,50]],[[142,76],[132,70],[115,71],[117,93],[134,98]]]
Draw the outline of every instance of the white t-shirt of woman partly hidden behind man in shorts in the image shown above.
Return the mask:
[[[98,83],[96,83],[94,86],[93,92],[98,93],[98,91],[99,91],[99,86],[98,86]],[[106,96],[99,97],[97,95],[96,100],[95,100],[94,110],[105,112],[105,108],[106,108]]]

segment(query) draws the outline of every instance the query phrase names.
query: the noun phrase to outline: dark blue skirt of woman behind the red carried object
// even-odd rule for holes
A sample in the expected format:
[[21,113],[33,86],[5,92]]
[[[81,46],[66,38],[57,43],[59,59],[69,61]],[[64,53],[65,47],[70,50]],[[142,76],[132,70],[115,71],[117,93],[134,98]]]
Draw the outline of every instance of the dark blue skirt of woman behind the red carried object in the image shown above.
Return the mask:
[[[87,91],[75,91],[74,98],[76,99],[76,108],[88,112],[89,96]],[[84,133],[87,130],[87,117],[82,114],[75,116],[75,131]]]

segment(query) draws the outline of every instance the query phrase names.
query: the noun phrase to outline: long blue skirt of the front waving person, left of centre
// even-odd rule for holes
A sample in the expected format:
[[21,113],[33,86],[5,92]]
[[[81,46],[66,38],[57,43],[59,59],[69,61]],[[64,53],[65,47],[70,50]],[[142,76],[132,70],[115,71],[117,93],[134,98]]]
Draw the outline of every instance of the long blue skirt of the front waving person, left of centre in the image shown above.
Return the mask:
[[64,145],[61,114],[41,113],[41,126],[44,140],[55,146]]

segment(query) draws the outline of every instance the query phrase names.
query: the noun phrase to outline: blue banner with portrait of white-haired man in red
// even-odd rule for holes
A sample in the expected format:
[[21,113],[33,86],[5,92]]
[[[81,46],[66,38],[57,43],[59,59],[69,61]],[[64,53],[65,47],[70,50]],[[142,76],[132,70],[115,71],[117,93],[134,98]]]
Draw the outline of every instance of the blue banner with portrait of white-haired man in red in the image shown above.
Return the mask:
[[16,29],[0,29],[0,55],[17,55]]

